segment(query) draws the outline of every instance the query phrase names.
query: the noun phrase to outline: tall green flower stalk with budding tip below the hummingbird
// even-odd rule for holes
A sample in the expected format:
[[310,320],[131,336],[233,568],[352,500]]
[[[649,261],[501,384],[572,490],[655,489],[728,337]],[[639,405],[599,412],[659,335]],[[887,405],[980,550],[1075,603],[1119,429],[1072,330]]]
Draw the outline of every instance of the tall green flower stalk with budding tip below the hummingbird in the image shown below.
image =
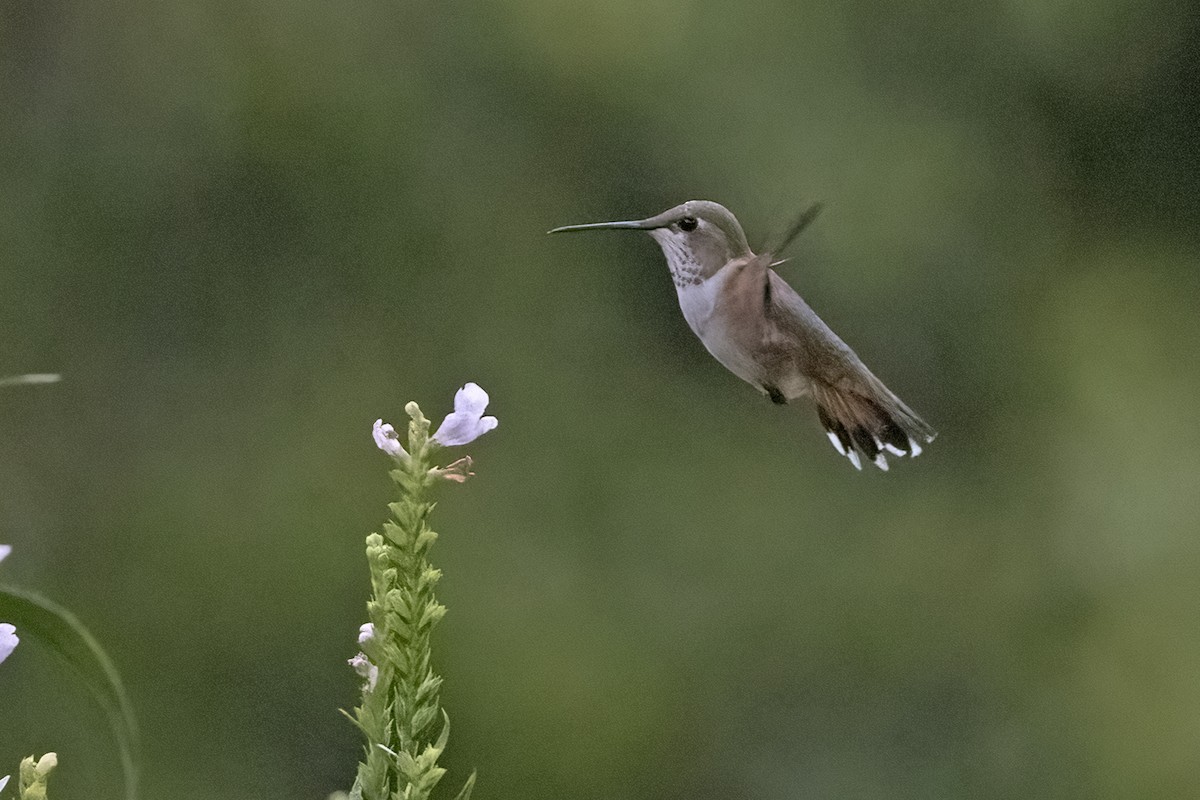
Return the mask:
[[[373,634],[360,644],[378,672],[367,675],[362,704],[354,710],[367,740],[350,792],[354,800],[425,800],[445,774],[438,758],[450,721],[440,708],[442,678],[433,670],[431,648],[445,607],[434,595],[442,573],[428,560],[438,537],[428,523],[432,488],[439,480],[431,471],[437,443],[430,440],[430,422],[416,403],[406,411],[412,419],[409,457],[390,473],[400,500],[389,504],[391,519],[383,534],[366,540]],[[462,800],[469,798],[474,777],[460,792]]]

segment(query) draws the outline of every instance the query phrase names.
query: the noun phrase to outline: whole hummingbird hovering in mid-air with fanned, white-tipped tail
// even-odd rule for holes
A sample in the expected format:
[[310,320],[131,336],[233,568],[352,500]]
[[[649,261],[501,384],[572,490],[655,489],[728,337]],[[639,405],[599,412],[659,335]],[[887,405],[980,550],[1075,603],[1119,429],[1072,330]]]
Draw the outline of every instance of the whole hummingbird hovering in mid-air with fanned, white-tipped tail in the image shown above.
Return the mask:
[[876,378],[773,267],[816,218],[810,206],[779,245],[755,254],[737,217],[719,203],[688,200],[646,219],[563,225],[644,230],[662,248],[679,308],[704,348],[730,372],[786,404],[808,397],[839,453],[887,470],[887,453],[920,455],[937,433]]

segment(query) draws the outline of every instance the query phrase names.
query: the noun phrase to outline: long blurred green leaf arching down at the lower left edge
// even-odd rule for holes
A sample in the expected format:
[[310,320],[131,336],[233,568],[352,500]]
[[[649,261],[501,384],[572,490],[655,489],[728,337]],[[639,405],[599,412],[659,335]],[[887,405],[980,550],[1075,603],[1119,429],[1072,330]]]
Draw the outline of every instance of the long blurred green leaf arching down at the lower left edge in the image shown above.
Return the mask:
[[0,619],[32,636],[70,664],[100,703],[113,729],[125,775],[125,798],[138,796],[138,730],[121,678],[96,638],[66,608],[24,589],[0,585]]

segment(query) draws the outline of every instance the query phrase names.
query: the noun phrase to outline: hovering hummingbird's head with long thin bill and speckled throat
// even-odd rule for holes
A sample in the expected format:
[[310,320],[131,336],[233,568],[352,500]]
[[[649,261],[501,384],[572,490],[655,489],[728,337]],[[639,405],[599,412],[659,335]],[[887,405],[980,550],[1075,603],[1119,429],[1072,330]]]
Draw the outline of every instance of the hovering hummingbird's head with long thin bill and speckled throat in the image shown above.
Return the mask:
[[572,230],[644,230],[662,248],[676,285],[701,283],[736,258],[752,255],[737,217],[719,203],[688,200],[646,219],[565,225]]

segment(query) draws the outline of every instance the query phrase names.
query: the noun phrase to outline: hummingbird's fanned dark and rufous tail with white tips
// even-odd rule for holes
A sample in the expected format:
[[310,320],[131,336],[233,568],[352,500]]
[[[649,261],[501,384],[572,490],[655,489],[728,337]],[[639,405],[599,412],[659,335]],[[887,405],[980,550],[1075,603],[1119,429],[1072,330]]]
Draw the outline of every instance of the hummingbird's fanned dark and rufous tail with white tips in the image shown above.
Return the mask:
[[922,443],[928,444],[937,435],[878,379],[863,389],[869,391],[860,393],[828,385],[812,389],[817,416],[829,441],[856,469],[863,469],[866,459],[887,470],[886,453],[919,456]]

